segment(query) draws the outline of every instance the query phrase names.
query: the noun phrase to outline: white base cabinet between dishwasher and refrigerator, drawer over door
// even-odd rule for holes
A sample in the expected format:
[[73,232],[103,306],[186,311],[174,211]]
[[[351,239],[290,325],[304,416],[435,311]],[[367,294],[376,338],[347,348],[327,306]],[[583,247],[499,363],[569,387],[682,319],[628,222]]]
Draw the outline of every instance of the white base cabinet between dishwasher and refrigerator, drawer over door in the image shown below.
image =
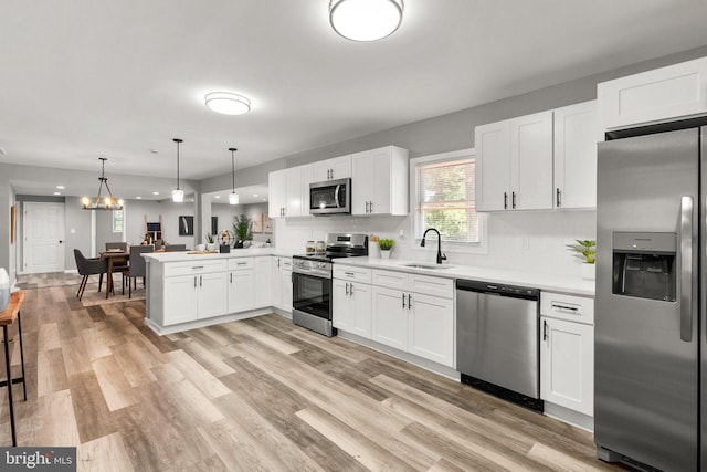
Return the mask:
[[540,294],[540,398],[594,413],[594,301]]

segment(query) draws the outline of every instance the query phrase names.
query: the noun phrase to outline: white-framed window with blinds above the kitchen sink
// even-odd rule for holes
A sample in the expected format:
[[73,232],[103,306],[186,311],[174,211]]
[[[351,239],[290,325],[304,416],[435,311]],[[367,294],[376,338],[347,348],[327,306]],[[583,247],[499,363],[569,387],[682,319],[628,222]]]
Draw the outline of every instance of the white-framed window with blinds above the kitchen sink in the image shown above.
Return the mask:
[[445,244],[481,247],[484,218],[474,202],[474,151],[421,157],[411,164],[415,238],[422,239],[426,228],[436,228]]

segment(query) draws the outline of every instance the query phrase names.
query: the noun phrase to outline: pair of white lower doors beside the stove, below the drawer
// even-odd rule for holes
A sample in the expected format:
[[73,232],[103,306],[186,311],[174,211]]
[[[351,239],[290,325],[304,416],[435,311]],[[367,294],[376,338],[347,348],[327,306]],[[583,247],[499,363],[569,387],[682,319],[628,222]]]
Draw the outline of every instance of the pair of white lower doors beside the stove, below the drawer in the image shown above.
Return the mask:
[[371,337],[371,286],[334,280],[333,324],[337,329]]

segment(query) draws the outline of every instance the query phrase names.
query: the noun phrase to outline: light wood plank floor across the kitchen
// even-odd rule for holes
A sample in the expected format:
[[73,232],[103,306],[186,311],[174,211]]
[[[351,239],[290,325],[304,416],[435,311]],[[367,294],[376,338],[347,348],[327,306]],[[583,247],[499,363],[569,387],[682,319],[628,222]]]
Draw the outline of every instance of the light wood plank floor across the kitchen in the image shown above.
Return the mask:
[[53,285],[25,291],[18,441],[77,445],[78,470],[619,469],[583,430],[277,315],[159,337],[145,302]]

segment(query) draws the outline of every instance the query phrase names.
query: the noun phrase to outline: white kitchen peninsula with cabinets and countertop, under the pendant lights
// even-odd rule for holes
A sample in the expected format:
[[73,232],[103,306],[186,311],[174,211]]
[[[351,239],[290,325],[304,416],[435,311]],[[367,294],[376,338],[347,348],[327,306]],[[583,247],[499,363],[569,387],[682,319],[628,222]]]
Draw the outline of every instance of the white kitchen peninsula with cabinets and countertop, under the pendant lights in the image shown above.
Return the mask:
[[165,335],[272,313],[278,255],[271,248],[144,254],[146,324]]

